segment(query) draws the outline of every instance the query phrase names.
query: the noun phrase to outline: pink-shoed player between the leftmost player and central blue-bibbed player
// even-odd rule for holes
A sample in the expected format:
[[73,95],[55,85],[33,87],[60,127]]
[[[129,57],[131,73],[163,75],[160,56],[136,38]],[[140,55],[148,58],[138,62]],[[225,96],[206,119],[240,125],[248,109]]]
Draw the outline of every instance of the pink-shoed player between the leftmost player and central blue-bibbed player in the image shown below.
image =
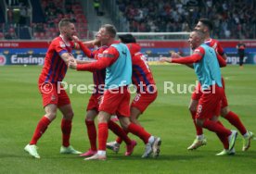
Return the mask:
[[[92,42],[86,42],[85,44],[97,44],[99,46],[94,52],[91,52],[87,46],[83,45],[81,41],[77,37],[74,37],[74,41],[79,44],[80,48],[83,50],[83,53],[96,60],[100,59],[104,50],[106,50],[109,46],[102,45],[100,46],[100,33],[96,34],[96,40]],[[83,64],[86,62],[76,61],[77,63]],[[92,93],[89,103],[87,105],[87,113],[85,116],[85,125],[87,128],[87,134],[89,137],[91,148],[83,153],[81,156],[89,156],[96,155],[96,125],[95,118],[98,114],[98,106],[100,99],[104,93],[104,85],[105,85],[105,77],[106,77],[106,68],[99,69],[93,72],[94,79],[94,92]],[[127,134],[122,130],[122,128],[112,120],[109,120],[109,130],[113,131],[116,135],[121,136],[124,142],[126,143],[126,152],[125,155],[132,155],[134,151],[134,146],[136,145],[135,141],[132,141]]]

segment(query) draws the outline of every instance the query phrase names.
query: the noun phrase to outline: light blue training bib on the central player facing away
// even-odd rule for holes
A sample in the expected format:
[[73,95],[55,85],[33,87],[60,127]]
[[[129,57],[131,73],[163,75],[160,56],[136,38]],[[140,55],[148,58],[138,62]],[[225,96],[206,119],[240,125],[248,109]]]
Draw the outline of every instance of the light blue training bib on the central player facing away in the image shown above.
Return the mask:
[[105,88],[114,89],[132,83],[132,57],[125,44],[111,44],[119,52],[118,59],[106,68]]

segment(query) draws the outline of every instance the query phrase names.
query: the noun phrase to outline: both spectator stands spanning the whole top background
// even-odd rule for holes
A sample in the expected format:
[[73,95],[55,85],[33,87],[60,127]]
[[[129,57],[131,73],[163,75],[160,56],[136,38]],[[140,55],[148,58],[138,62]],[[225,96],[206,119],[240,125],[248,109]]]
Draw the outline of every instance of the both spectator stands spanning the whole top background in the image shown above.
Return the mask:
[[[108,8],[109,4],[112,5],[112,1],[116,2],[119,10],[113,7]],[[4,34],[2,38],[52,39],[58,35],[57,24],[59,19],[63,17],[73,19],[76,22],[80,38],[85,39],[88,36],[88,22],[84,16],[86,11],[85,6],[82,6],[82,4],[84,5],[82,0],[14,1],[19,2],[19,4],[10,4],[9,2],[12,1],[0,2],[0,32],[2,35]],[[113,13],[114,15],[109,18],[112,19],[119,31],[191,31],[199,18],[208,18],[214,23],[212,36],[216,39],[256,38],[255,1],[109,0],[108,2],[100,2],[103,5],[102,8],[109,12],[120,11]],[[7,10],[2,10],[6,7],[4,3]],[[31,5],[31,8],[20,7],[28,5]],[[20,9],[19,13],[13,10],[17,6]],[[93,7],[93,5],[90,6]],[[129,25],[124,25],[126,23]],[[90,25],[93,26],[93,23]],[[13,30],[14,28],[16,30]]]

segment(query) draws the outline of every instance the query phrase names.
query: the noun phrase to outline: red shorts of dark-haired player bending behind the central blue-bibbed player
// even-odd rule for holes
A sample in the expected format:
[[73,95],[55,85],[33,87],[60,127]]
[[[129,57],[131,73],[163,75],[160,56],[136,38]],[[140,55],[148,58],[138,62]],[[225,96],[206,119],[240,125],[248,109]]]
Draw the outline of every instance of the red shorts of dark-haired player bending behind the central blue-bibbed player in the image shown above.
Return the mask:
[[156,93],[137,93],[131,107],[136,107],[141,113],[143,113],[147,109],[147,106],[154,102],[157,96],[157,91]]

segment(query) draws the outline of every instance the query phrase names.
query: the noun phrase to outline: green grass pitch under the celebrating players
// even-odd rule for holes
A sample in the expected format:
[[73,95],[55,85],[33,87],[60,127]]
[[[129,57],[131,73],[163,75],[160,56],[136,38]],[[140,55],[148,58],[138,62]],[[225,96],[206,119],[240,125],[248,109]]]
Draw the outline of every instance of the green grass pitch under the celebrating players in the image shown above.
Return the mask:
[[[137,137],[138,145],[132,156],[124,156],[125,146],[119,154],[108,151],[106,161],[84,161],[77,155],[60,155],[60,119],[58,117],[38,142],[41,159],[33,159],[23,151],[29,143],[39,119],[44,115],[42,99],[37,89],[40,66],[0,67],[0,173],[242,173],[256,172],[256,141],[250,150],[242,152],[242,137],[238,134],[234,156],[215,156],[223,150],[217,136],[204,131],[208,144],[189,152],[186,147],[195,138],[195,129],[187,110],[190,93],[177,93],[184,84],[196,81],[195,73],[185,66],[152,66],[159,88],[155,103],[148,107],[140,121],[147,131],[162,139],[158,159],[142,159],[144,144]],[[246,65],[222,68],[230,108],[245,126],[256,133],[256,67]],[[69,70],[65,81],[72,84],[92,83],[90,72]],[[175,93],[163,93],[164,81],[173,81]],[[89,93],[70,94],[74,110],[70,143],[85,151],[89,143],[84,125],[84,112]],[[134,96],[134,95],[133,95]],[[235,129],[224,118],[224,125]],[[109,131],[109,141],[114,139]]]

